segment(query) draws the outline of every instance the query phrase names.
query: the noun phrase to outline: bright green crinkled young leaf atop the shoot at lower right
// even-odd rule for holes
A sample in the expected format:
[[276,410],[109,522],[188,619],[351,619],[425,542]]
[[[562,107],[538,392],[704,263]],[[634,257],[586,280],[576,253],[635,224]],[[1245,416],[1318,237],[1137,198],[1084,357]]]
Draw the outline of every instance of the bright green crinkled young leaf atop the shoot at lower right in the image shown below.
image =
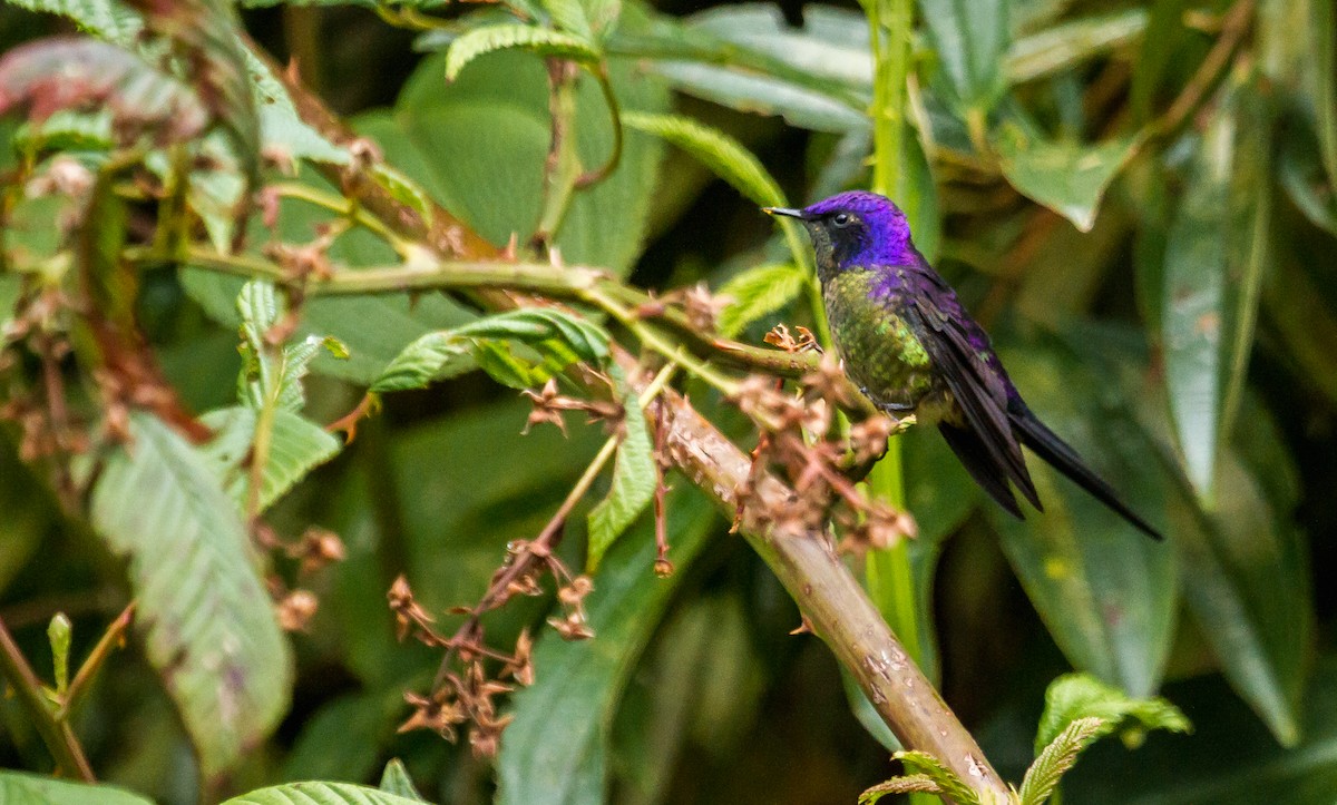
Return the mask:
[[1042,754],[1064,730],[1090,718],[1100,722],[1091,733],[1095,738],[1112,733],[1130,719],[1147,730],[1193,730],[1185,714],[1161,697],[1131,698],[1091,674],[1064,674],[1044,691],[1044,713],[1035,733],[1035,753]]

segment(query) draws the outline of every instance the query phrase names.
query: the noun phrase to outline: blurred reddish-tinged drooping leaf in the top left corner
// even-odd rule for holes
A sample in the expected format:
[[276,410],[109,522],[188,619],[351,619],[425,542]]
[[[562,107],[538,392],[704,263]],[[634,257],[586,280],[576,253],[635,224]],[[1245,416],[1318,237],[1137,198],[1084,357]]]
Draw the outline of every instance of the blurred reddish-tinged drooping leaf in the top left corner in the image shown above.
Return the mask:
[[182,82],[122,48],[94,39],[43,39],[0,58],[0,114],[28,108],[40,123],[57,110],[104,106],[123,142],[197,136],[209,112]]

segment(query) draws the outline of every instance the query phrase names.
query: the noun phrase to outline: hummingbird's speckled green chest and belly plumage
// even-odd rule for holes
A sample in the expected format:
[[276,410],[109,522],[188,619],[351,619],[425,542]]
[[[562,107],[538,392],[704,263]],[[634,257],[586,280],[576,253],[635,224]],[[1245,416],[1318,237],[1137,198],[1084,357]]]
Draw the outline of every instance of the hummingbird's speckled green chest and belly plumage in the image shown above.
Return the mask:
[[878,407],[906,413],[941,394],[928,352],[904,313],[906,298],[873,271],[842,271],[822,285],[845,373]]

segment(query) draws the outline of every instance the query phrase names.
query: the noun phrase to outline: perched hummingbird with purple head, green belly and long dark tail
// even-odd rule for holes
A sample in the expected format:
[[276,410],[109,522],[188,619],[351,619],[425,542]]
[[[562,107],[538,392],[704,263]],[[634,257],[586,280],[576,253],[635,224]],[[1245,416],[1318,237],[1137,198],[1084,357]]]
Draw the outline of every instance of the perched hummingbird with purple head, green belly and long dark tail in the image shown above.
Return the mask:
[[905,213],[876,193],[833,195],[802,210],[845,373],[881,411],[937,423],[952,452],[1003,508],[1021,508],[1009,481],[1043,511],[1021,445],[1154,539],[1161,532],[1119,500],[1021,400],[988,334],[910,241]]

